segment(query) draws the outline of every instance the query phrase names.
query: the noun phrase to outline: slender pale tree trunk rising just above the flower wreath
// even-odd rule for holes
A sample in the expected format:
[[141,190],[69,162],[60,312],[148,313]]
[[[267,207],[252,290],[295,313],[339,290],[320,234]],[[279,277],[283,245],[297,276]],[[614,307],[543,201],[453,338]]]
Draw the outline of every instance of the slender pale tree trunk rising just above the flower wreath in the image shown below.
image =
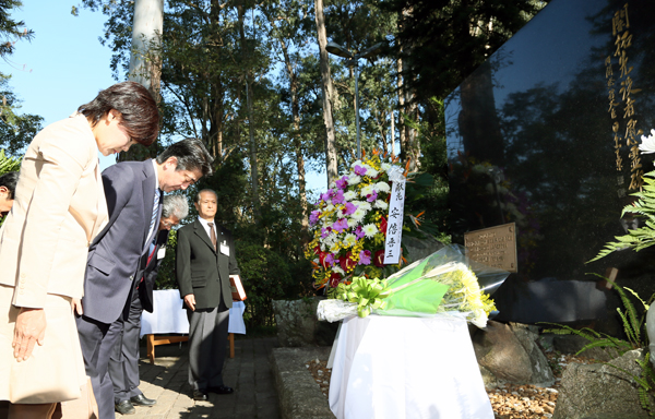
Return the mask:
[[314,0],[317,33],[319,38],[319,58],[321,63],[321,79],[323,92],[323,121],[325,123],[325,165],[327,168],[327,187],[336,180],[336,137],[334,121],[332,119],[332,77],[330,75],[330,58],[327,57],[327,33],[325,31],[325,16],[323,15],[323,0]]

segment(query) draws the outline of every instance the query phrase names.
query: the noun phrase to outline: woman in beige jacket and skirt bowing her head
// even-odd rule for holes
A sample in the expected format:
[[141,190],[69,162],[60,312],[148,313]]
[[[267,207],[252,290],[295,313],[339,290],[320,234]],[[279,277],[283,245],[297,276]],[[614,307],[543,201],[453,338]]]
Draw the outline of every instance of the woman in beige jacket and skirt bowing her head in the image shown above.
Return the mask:
[[0,400],[10,402],[10,418],[50,418],[59,403],[81,398],[72,303],[82,298],[87,248],[107,223],[97,152],[150,145],[158,123],[150,93],[124,82],[29,144],[0,237]]

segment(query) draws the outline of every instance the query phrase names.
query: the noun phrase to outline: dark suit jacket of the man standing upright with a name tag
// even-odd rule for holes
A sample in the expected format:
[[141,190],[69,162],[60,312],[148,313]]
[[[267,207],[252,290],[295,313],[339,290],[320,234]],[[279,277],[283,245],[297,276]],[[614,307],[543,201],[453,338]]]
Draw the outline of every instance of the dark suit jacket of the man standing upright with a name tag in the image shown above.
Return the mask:
[[[176,249],[176,277],[182,298],[195,297],[195,309],[213,309],[221,300],[233,306],[229,275],[239,275],[231,232],[216,226],[216,250],[202,224],[195,220],[178,230]],[[221,252],[221,243],[229,255]],[[187,308],[184,306],[184,308]]]

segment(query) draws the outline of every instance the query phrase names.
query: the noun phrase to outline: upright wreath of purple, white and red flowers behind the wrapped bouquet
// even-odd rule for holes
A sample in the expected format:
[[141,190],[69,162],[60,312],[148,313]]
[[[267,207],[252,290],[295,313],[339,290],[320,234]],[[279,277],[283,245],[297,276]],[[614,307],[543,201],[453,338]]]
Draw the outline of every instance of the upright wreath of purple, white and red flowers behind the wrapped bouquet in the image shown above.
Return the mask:
[[312,261],[317,288],[327,286],[329,296],[354,276],[384,277],[400,268],[383,263],[394,166],[400,167],[397,159],[385,159],[377,151],[353,163],[311,212],[314,237],[306,256]]

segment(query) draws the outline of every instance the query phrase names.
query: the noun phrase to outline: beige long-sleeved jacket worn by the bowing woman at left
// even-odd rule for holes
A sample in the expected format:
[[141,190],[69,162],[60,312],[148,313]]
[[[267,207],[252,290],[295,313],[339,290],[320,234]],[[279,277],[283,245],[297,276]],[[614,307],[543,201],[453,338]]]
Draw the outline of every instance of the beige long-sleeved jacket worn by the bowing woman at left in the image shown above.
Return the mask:
[[88,244],[108,218],[97,155],[81,113],[29,144],[0,237],[0,284],[16,288],[14,306],[43,308],[47,294],[82,297]]

